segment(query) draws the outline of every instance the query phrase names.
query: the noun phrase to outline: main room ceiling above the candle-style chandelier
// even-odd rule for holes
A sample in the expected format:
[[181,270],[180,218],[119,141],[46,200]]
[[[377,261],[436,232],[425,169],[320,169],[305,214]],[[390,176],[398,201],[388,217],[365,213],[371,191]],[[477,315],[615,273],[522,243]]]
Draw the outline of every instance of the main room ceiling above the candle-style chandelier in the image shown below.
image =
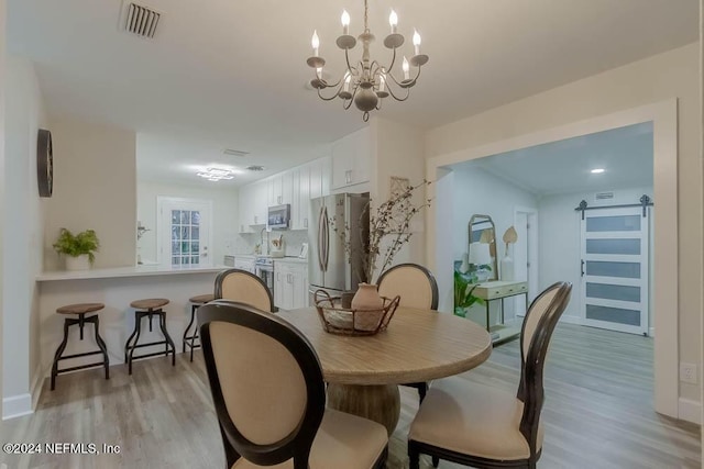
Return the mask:
[[[142,1],[142,0],[140,0]],[[107,121],[140,133],[144,178],[194,182],[189,165],[242,164],[266,176],[323,156],[364,125],[305,83],[317,29],[327,69],[340,13],[361,32],[362,0],[143,0],[163,13],[153,41],[119,29],[122,0],[9,0],[11,53],[35,62],[52,114]],[[430,56],[407,102],[380,115],[429,129],[697,41],[697,0],[371,0],[377,43],[391,8]],[[359,53],[359,51],[358,51]],[[374,57],[387,59],[383,47]],[[237,160],[237,158],[235,158]],[[239,161],[239,160],[238,160]],[[227,185],[229,182],[219,182]]]

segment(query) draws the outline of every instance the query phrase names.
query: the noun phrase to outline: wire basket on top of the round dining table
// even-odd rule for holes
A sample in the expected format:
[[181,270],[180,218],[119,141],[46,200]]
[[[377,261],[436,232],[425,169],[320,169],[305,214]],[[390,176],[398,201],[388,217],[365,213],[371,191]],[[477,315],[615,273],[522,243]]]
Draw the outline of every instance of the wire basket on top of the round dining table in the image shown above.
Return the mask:
[[[366,284],[366,283],[363,283]],[[360,284],[360,289],[363,289]],[[373,284],[367,287],[376,288]],[[385,331],[398,308],[400,297],[388,299],[378,297],[381,305],[374,310],[342,308],[340,297],[330,297],[324,290],[315,293],[316,310],[322,327],[330,334],[374,335]]]

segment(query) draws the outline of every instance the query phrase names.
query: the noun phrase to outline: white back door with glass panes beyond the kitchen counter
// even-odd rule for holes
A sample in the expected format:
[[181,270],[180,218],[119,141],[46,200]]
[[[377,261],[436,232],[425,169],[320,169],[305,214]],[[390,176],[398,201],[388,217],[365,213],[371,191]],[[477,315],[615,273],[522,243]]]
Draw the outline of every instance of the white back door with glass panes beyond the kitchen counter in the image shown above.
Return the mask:
[[165,266],[210,266],[210,201],[158,198],[158,261]]

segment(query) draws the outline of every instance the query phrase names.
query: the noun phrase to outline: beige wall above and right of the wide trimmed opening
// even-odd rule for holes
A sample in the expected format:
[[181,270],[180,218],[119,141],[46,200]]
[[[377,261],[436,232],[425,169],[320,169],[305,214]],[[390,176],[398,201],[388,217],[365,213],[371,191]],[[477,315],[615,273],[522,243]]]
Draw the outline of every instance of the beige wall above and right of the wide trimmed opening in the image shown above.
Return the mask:
[[[693,255],[702,249],[703,214],[698,64],[700,46],[694,43],[440,126],[427,133],[426,158],[429,165],[437,159],[457,163],[471,148],[518,142],[526,135],[676,98],[679,359],[701,369],[703,268],[701,256]],[[435,235],[428,236],[428,246],[433,247]],[[697,386],[676,381],[668,386],[679,388],[682,399],[700,401]]]

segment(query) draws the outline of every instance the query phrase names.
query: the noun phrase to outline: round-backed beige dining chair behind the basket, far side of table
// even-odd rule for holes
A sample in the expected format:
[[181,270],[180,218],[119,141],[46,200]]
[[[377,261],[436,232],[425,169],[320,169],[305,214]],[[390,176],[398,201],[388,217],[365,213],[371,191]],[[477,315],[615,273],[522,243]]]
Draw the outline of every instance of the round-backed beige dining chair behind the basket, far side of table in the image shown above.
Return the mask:
[[[385,270],[378,278],[378,294],[382,297],[400,297],[400,306],[420,310],[438,309],[438,282],[432,272],[418,264],[399,264]],[[411,382],[409,386],[418,390],[420,402],[428,392],[427,382]]]

